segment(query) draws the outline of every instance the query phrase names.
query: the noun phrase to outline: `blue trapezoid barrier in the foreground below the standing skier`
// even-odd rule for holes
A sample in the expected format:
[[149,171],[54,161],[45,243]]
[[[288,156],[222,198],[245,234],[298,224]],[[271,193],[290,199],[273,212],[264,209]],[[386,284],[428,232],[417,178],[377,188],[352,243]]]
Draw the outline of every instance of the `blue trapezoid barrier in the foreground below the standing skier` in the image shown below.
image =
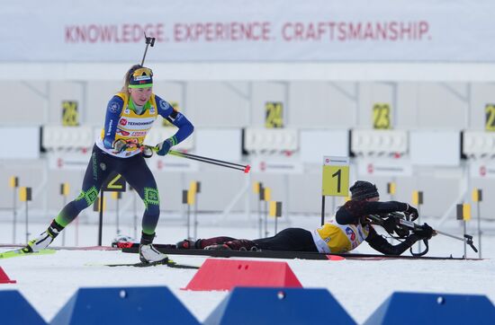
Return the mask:
[[199,325],[199,322],[166,286],[148,286],[81,288],[50,324]]

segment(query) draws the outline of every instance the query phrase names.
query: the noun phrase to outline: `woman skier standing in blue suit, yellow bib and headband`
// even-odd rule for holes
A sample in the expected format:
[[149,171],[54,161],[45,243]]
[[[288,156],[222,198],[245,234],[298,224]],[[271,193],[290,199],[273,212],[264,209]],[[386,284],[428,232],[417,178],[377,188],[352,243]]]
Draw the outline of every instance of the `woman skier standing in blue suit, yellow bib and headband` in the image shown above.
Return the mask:
[[152,150],[143,145],[153,122],[161,115],[179,129],[156,145],[157,154],[166,155],[170,148],[193,133],[193,125],[167,101],[153,93],[153,72],[145,66],[131,66],[124,77],[121,92],[108,102],[104,127],[93,147],[79,196],[49,224],[39,237],[28,242],[24,252],[45,249],[57,235],[87,206],[91,206],[112,171],[120,173],[139,193],[146,207],[142,218],[139,259],[144,262],[166,261],[165,254],[152,245],[160,214],[157,182],[144,158]]

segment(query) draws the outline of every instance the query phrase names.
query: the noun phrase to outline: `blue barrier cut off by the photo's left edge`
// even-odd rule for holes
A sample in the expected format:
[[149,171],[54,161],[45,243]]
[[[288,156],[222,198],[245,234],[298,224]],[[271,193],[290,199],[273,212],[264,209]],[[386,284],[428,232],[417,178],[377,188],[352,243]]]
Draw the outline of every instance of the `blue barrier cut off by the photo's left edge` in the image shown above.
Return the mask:
[[3,325],[46,325],[40,314],[32,308],[17,290],[0,291],[0,323]]

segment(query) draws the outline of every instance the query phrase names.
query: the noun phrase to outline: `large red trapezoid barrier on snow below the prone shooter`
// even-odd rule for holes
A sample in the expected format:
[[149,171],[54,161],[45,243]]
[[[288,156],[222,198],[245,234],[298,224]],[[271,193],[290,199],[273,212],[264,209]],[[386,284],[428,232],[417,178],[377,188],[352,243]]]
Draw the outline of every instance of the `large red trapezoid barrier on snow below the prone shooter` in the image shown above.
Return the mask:
[[235,286],[302,287],[286,262],[206,259],[184,289],[231,290]]

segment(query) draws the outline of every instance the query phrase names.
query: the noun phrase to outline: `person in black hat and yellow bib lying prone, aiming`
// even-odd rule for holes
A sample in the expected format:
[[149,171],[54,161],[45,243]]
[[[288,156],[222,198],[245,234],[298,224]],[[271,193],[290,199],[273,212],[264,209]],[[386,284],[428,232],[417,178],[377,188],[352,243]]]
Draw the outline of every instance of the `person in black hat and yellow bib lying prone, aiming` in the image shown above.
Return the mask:
[[302,228],[287,228],[273,237],[254,241],[232,237],[214,237],[195,242],[184,240],[177,243],[177,248],[345,253],[355,250],[366,241],[374,250],[385,255],[401,255],[415,242],[428,240],[434,234],[434,230],[428,224],[423,224],[421,230],[414,231],[403,242],[392,245],[382,235],[376,233],[366,215],[403,212],[410,215],[411,220],[414,221],[418,218],[418,210],[414,206],[398,201],[379,202],[378,189],[368,181],[357,180],[350,191],[351,199],[338,208],[335,219],[312,232]]

